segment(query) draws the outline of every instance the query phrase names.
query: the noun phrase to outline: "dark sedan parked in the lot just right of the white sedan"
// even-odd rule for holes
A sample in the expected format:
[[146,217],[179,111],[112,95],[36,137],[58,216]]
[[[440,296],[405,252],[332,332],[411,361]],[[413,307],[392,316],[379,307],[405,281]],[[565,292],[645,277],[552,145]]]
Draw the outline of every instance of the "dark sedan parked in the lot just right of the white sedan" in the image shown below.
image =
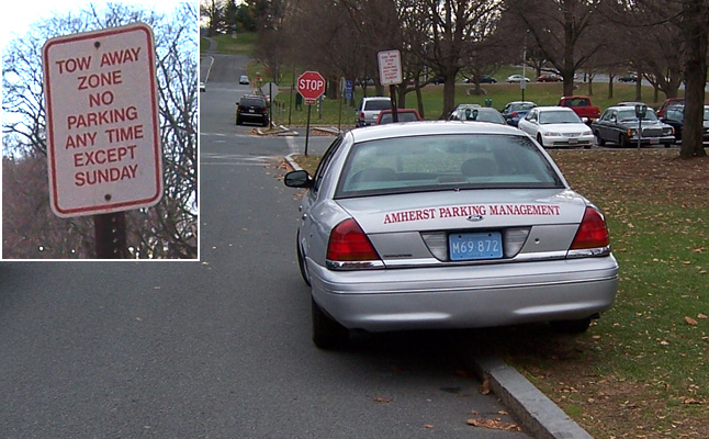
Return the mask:
[[[609,106],[600,119],[590,124],[590,128],[599,146],[610,142],[627,148],[638,146],[640,125],[634,106]],[[660,122],[655,112],[648,109],[642,117],[641,145],[664,145],[668,148],[674,142],[674,128]]]

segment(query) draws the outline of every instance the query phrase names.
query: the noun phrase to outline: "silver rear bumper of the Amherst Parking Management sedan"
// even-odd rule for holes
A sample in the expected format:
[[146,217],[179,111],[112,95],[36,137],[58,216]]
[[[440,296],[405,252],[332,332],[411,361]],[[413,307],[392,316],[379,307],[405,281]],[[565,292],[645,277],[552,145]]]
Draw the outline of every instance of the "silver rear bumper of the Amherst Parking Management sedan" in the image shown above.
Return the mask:
[[506,326],[585,318],[618,288],[612,256],[401,270],[331,271],[308,260],[315,302],[350,329]]

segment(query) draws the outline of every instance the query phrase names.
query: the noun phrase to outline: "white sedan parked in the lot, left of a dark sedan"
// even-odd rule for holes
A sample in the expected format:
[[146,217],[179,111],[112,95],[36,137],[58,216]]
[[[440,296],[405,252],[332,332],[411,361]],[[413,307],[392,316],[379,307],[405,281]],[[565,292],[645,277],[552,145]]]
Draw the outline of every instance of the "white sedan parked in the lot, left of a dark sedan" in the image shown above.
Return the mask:
[[573,110],[563,106],[537,106],[519,121],[519,130],[536,138],[544,148],[590,148],[594,135]]

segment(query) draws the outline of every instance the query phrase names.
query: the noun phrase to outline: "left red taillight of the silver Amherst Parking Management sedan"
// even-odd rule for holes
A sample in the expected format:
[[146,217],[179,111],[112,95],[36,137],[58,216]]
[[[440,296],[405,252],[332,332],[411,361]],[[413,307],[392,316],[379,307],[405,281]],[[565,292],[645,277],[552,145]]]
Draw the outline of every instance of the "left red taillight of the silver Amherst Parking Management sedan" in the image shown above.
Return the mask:
[[327,260],[337,264],[337,262],[368,262],[381,259],[359,224],[348,218],[330,233]]

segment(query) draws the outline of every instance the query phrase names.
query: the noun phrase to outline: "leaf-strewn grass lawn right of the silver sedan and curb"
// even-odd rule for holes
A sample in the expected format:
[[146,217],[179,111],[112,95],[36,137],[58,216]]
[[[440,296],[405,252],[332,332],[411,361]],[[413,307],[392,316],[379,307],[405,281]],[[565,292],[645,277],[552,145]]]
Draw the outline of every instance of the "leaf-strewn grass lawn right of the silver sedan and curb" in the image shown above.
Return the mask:
[[[581,336],[483,337],[597,438],[709,437],[709,158],[676,149],[551,151],[606,214],[615,306]],[[307,157],[313,170],[317,157]]]

